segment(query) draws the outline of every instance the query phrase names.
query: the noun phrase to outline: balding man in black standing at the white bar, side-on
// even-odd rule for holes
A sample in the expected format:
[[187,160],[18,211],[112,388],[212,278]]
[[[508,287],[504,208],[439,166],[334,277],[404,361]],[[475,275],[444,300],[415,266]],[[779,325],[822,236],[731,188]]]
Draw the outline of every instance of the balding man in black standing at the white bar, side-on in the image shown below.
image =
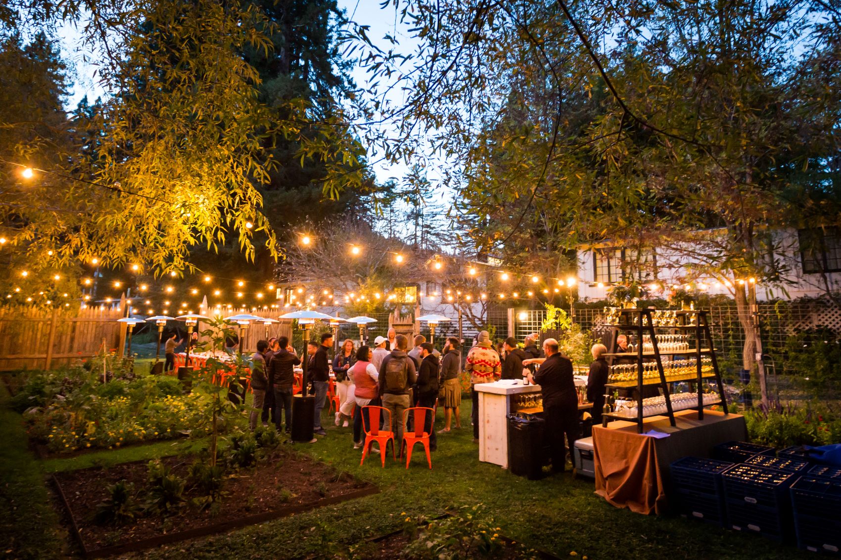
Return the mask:
[[553,338],[543,341],[543,351],[546,360],[536,374],[528,374],[528,380],[542,389],[543,419],[546,420],[546,443],[552,458],[552,470],[563,473],[567,462],[563,435],[567,435],[572,452],[578,433],[578,393],[575,391],[573,362],[558,353],[558,341]]

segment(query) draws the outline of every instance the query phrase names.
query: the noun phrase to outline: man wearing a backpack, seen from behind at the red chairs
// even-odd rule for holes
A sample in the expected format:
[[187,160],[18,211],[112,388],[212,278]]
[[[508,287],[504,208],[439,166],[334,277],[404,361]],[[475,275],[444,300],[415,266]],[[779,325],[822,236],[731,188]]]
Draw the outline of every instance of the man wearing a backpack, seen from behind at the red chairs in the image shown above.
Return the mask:
[[397,347],[383,358],[379,367],[379,394],[383,399],[383,407],[391,412],[394,445],[402,451],[403,413],[411,406],[409,388],[417,381],[417,373],[415,361],[406,354],[409,339],[404,335],[396,335],[394,344]]

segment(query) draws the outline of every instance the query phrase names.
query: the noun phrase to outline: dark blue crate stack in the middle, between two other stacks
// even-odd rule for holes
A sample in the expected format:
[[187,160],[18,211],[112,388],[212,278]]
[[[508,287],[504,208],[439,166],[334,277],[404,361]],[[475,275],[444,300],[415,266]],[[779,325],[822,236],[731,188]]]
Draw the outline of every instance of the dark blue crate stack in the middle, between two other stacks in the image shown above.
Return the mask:
[[796,473],[739,464],[722,473],[727,526],[754,531],[776,541],[791,535],[789,487]]

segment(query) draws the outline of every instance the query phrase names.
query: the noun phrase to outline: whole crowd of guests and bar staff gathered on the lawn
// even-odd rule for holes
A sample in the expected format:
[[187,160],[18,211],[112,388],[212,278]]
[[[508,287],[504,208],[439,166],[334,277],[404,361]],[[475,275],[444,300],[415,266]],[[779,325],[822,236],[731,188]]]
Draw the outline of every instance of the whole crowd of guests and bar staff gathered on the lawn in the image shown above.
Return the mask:
[[[579,427],[574,371],[572,362],[559,351],[558,341],[551,338],[543,341],[541,351],[537,340],[537,335],[530,335],[521,347],[509,337],[497,349],[492,345],[488,331],[483,330],[477,336],[463,367],[470,375],[473,441],[479,441],[479,391],[476,386],[500,378],[522,378],[524,383],[542,388],[547,446],[551,450],[553,469],[563,471],[568,449],[573,448]],[[315,435],[326,435],[321,416],[327,404],[331,372],[336,396],[332,420],[337,426],[352,427],[356,449],[364,445],[365,431],[370,430],[370,425],[368,416],[356,414],[355,409],[362,412],[368,405],[389,410],[384,421],[389,421],[390,417],[390,429],[398,450],[403,441],[405,411],[412,407],[436,409],[440,406],[444,409],[443,426],[438,430],[433,429],[433,415],[424,417],[423,431],[430,435],[431,451],[436,450],[438,435],[461,429],[461,342],[449,337],[442,351],[436,350],[423,335],[416,335],[413,342],[409,350],[409,339],[389,329],[387,336],[377,336],[371,346],[357,347],[350,339],[342,341],[331,360],[334,344],[331,333],[310,341],[308,355],[303,359],[308,360],[309,392],[315,395]],[[167,353],[168,350],[167,347]],[[592,348],[594,362],[590,366],[587,399],[593,404],[592,415],[596,422],[600,421],[604,405],[608,367],[603,355],[606,351],[601,344]],[[263,425],[271,421],[278,431],[291,432],[294,368],[301,360],[285,336],[257,342],[257,351],[251,356],[254,397],[249,425],[252,430],[259,419]],[[411,419],[409,422],[411,428]]]

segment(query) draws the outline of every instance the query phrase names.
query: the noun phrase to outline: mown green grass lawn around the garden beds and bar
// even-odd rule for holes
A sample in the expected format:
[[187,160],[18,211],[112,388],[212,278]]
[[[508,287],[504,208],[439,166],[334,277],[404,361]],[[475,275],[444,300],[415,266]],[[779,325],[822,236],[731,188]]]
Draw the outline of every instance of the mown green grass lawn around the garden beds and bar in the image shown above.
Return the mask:
[[[3,404],[8,399],[5,389]],[[439,436],[432,470],[417,448],[409,470],[390,458],[380,468],[373,456],[359,465],[350,428],[337,428],[325,415],[328,435],[312,445],[296,447],[333,463],[336,468],[378,484],[381,492],[302,515],[251,526],[222,536],[161,547],[140,555],[148,558],[289,558],[334,557],[369,536],[398,529],[405,516],[440,515],[461,505],[484,504],[505,536],[567,557],[593,560],[644,557],[678,558],[814,558],[794,547],[759,536],[724,531],[680,517],[643,516],[617,510],[593,494],[589,480],[565,475],[529,481],[480,463],[472,443],[470,405],[463,407],[461,431]],[[442,413],[437,420],[442,422]],[[92,464],[131,461],[174,452],[188,452],[191,442],[172,441],[97,452],[82,457],[37,462],[25,449],[20,417],[0,411],[3,494],[0,531],[10,557],[62,557],[63,531],[50,510],[44,477],[47,471]],[[8,545],[6,544],[8,542]]]

